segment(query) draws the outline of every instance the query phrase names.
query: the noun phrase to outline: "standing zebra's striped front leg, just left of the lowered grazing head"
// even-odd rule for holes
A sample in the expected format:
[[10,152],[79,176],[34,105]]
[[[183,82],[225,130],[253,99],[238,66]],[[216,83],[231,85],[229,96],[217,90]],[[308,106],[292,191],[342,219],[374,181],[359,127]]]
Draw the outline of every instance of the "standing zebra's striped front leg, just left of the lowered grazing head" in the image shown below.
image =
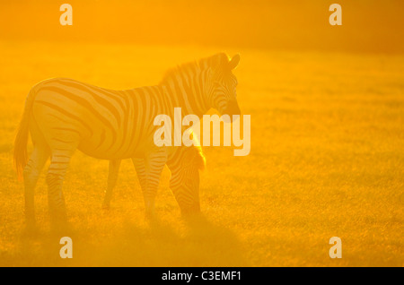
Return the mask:
[[167,153],[163,149],[152,152],[145,158],[145,187],[143,188],[145,219],[154,218],[155,196],[166,161]]

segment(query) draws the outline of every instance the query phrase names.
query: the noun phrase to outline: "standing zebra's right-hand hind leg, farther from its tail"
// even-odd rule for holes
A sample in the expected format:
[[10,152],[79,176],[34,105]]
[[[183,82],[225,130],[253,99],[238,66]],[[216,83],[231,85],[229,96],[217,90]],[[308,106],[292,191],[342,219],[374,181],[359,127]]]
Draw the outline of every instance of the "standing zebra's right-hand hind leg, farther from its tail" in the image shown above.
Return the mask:
[[74,151],[53,149],[46,177],[48,184],[48,207],[51,225],[55,229],[63,229],[67,224],[66,203],[62,192],[70,158]]

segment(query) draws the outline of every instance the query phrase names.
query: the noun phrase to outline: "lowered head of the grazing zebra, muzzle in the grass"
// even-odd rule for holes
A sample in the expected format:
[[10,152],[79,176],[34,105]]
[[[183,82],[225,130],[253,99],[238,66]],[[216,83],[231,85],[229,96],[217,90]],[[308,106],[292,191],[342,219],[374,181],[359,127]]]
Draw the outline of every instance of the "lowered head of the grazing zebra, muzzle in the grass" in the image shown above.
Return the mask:
[[205,156],[200,147],[180,147],[180,161],[171,166],[170,188],[183,215],[200,212],[199,203],[199,170],[205,168]]

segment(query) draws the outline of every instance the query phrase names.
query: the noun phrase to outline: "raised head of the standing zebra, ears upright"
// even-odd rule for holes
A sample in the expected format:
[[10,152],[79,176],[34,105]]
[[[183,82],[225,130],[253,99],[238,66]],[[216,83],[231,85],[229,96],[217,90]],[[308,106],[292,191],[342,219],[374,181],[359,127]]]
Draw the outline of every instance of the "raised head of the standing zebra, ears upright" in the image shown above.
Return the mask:
[[229,58],[221,53],[208,58],[210,68],[210,92],[208,100],[210,107],[215,108],[221,115],[241,115],[239,104],[237,103],[237,78],[233,74],[233,69],[239,65],[240,55]]

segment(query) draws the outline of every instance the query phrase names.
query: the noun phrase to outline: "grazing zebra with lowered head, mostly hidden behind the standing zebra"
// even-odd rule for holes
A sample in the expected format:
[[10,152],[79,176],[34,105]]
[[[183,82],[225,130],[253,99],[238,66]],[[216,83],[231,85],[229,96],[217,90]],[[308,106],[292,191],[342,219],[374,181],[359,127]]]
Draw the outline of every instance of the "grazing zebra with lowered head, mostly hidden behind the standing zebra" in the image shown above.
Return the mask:
[[[133,158],[133,164],[140,186],[145,191],[145,161]],[[121,160],[110,160],[108,186],[102,208],[110,208],[112,192],[118,180]],[[171,171],[170,188],[183,215],[200,212],[199,203],[199,170],[203,170],[206,159],[200,146],[178,147],[167,158]]]

